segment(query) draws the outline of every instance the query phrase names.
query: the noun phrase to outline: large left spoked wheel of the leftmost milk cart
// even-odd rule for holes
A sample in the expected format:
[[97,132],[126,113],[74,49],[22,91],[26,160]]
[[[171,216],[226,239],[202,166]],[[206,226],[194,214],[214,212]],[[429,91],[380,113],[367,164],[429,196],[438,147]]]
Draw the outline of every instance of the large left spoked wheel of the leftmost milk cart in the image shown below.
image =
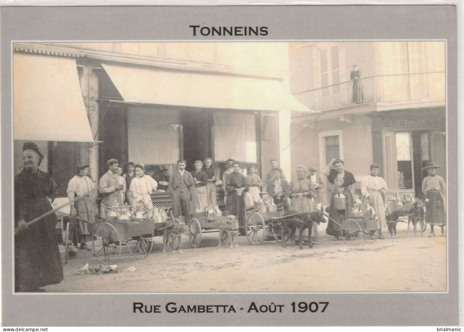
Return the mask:
[[[121,255],[121,238],[116,228],[110,223],[100,223],[93,231],[93,236],[92,247],[94,256],[106,265],[116,263]],[[98,245],[100,243],[101,248]]]

